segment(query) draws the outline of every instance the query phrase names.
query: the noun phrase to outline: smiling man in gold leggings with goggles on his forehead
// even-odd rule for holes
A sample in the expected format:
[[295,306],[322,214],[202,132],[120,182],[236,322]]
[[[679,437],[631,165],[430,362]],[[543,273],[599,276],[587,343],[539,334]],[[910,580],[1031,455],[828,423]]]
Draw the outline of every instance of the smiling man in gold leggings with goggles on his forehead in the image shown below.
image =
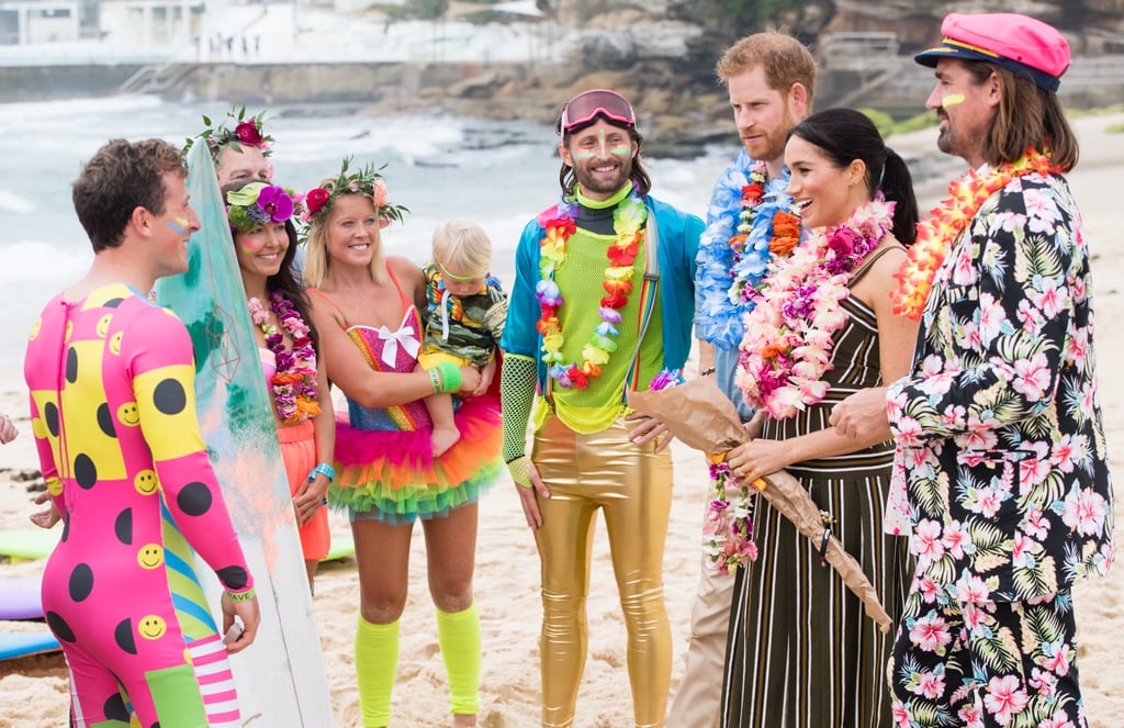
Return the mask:
[[601,510],[635,725],[659,728],[671,680],[662,576],[671,457],[661,424],[629,419],[625,393],[680,377],[704,225],[649,195],[636,115],[616,91],[579,93],[558,133],[562,199],[524,228],[500,342],[504,459],[542,561],[543,726],[573,725]]

